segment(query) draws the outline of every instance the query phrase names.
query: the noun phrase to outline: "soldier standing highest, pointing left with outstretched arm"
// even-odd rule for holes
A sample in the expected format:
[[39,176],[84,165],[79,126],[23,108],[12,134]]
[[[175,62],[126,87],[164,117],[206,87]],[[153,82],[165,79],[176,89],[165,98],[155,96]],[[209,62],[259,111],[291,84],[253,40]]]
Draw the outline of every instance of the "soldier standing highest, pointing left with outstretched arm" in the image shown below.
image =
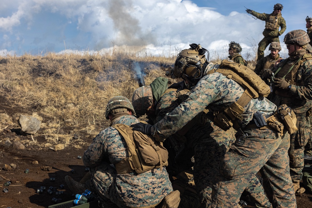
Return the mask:
[[273,9],[274,11],[271,14],[258,13],[250,9],[246,10],[247,13],[266,21],[266,27],[262,33],[264,38],[258,44],[257,61],[264,57],[264,50],[271,42],[280,42],[279,36],[286,30],[286,21],[280,13],[283,9],[283,5],[279,3],[275,4]]

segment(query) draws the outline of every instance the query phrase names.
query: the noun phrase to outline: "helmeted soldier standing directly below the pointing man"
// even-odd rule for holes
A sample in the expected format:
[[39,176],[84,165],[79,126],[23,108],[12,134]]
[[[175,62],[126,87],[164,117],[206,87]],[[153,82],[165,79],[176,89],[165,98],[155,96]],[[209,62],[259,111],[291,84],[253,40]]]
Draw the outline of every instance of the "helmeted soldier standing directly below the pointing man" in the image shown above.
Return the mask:
[[283,59],[279,54],[281,49],[279,42],[272,42],[269,47],[270,54],[257,62],[254,72],[262,78],[263,72],[272,70],[275,62]]

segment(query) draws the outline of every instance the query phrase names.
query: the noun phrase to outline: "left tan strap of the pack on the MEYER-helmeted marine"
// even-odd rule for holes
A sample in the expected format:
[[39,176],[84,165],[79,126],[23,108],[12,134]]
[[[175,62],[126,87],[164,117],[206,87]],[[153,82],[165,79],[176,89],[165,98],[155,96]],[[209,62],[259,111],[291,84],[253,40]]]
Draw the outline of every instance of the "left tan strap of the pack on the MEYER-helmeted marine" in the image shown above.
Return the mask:
[[139,156],[137,155],[137,152],[135,150],[136,145],[134,142],[132,129],[128,125],[124,125],[121,123],[112,125],[112,127],[115,128],[124,138],[125,142],[127,143],[129,155],[129,157],[126,157],[122,161],[115,164],[117,173],[123,174],[132,172],[133,170],[141,167]]

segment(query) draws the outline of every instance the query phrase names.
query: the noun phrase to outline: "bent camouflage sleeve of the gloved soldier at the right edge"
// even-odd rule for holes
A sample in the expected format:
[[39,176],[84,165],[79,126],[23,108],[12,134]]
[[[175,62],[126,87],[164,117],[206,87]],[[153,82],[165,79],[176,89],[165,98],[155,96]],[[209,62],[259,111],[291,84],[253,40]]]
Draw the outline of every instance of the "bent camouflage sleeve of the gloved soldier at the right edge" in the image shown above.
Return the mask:
[[312,60],[303,62],[297,72],[302,86],[291,85],[290,93],[302,100],[312,100]]

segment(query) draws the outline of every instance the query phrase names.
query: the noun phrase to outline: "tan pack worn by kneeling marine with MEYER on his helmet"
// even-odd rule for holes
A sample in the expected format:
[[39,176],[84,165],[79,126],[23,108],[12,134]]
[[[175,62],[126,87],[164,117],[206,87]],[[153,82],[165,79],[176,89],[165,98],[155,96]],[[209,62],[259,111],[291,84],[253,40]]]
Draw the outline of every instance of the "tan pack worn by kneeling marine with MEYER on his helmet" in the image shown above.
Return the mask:
[[112,127],[126,141],[129,154],[129,157],[115,164],[117,174],[133,171],[143,173],[154,168],[162,169],[168,165],[168,151],[163,147],[163,143],[149,135],[133,131],[128,125],[115,124]]

